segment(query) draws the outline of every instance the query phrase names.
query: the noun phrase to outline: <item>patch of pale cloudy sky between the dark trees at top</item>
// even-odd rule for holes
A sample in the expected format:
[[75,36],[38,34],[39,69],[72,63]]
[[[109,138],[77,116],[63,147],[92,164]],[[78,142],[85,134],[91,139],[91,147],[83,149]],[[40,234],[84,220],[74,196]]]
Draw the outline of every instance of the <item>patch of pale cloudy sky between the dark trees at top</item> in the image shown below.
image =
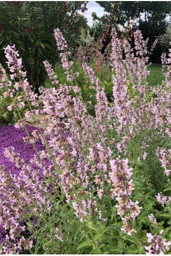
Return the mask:
[[99,4],[95,3],[95,1],[89,1],[89,3],[87,4],[87,8],[88,8],[88,10],[85,11],[85,13],[81,13],[81,12],[79,12],[79,13],[88,19],[89,26],[92,26],[92,24],[93,24],[93,19],[91,16],[93,11],[95,11],[95,13],[98,17],[102,17],[104,14],[107,14],[106,11],[104,11],[104,9]]

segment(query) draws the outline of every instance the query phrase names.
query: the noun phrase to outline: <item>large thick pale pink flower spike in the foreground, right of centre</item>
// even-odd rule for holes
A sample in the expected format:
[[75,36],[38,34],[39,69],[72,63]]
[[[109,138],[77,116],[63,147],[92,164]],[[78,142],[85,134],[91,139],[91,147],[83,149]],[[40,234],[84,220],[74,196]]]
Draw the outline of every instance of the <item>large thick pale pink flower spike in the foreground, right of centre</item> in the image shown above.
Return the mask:
[[142,207],[138,206],[138,201],[135,203],[129,199],[129,196],[134,189],[131,175],[132,168],[128,167],[128,159],[110,161],[112,171],[109,172],[109,177],[114,185],[114,190],[111,190],[112,197],[116,197],[118,201],[117,213],[123,220],[123,230],[129,236],[136,230],[133,228],[133,220],[139,215]]

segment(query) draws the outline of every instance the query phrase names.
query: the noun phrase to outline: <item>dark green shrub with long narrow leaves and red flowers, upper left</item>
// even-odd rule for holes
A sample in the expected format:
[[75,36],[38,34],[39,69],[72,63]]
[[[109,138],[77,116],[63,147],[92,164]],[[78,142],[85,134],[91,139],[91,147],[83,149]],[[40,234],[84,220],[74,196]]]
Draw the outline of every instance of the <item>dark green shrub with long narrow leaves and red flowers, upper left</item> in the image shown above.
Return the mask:
[[3,48],[15,44],[27,78],[38,92],[46,78],[43,61],[49,61],[54,67],[59,60],[54,29],[62,30],[69,47],[74,47],[81,28],[86,25],[86,19],[77,11],[84,12],[86,5],[87,2],[82,1],[0,2],[1,64],[6,65]]

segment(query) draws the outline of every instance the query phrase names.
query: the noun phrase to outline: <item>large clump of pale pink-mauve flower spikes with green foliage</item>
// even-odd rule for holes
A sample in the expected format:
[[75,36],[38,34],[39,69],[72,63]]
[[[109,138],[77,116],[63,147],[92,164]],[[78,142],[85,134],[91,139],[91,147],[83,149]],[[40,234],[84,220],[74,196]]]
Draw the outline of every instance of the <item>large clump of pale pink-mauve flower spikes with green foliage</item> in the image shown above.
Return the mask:
[[[129,42],[119,40],[112,30],[112,103],[93,68],[82,64],[96,99],[95,117],[82,99],[76,81],[79,74],[72,71],[70,52],[65,51],[67,44],[59,29],[55,38],[69,86],[58,85],[51,65],[44,61],[56,87],[40,87],[41,99],[25,78],[15,46],[5,49],[12,75],[9,87],[3,80],[1,87],[6,87],[4,97],[22,91],[8,109],[20,114],[19,109],[28,104],[25,119],[15,127],[26,131],[24,141],[33,146],[35,154],[25,163],[15,147],[4,151],[20,172],[14,176],[6,166],[1,168],[0,217],[7,232],[3,252],[143,254],[169,250],[171,53],[165,81],[152,89],[146,82],[148,40],[143,40],[141,31],[134,37],[135,54]],[[37,114],[44,115],[43,129]],[[38,126],[31,134],[27,118]],[[35,146],[38,141],[41,150]],[[26,236],[25,228],[31,235]]]

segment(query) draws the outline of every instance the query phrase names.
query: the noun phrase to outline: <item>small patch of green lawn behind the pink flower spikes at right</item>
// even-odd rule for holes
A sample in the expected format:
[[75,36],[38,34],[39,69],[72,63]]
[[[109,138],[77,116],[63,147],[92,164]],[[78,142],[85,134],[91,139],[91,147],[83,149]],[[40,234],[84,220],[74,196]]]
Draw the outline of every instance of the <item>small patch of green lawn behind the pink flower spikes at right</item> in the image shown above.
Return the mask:
[[164,80],[162,65],[158,63],[153,63],[148,67],[150,70],[150,75],[147,76],[146,80],[149,83],[149,86],[161,85],[162,80]]

